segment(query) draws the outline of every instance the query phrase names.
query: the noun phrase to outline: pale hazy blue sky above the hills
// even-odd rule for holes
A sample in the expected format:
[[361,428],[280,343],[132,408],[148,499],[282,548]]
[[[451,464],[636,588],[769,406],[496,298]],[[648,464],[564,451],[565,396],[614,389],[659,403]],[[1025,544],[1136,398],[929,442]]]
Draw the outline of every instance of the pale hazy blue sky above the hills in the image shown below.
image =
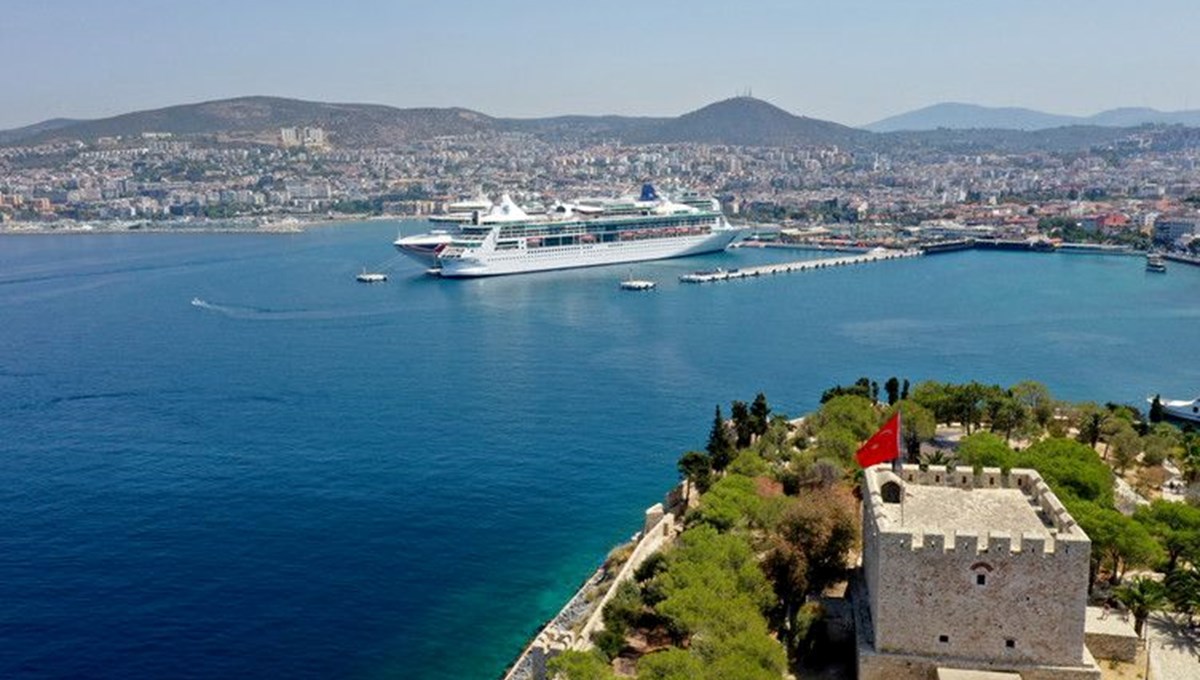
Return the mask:
[[1182,109],[1200,1],[6,0],[0,64],[0,128],[241,95],[677,115],[749,88],[847,125]]

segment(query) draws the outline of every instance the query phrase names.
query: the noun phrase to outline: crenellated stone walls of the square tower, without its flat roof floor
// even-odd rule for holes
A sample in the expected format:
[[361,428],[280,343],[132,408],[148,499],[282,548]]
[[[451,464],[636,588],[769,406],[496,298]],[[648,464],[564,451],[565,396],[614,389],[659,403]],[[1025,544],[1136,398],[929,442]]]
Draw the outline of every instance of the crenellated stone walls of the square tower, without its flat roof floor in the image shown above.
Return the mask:
[[[1079,666],[1091,544],[1032,470],[918,470],[905,485],[1021,488],[1056,536],[901,530],[882,509],[874,470],[864,494],[864,576],[880,652]],[[911,477],[911,481],[910,481]]]

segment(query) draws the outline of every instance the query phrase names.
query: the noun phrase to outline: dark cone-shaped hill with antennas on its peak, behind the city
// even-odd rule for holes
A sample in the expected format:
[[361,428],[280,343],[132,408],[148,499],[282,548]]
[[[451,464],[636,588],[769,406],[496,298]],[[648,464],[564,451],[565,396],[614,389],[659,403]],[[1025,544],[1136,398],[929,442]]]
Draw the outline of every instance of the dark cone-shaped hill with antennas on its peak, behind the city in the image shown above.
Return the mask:
[[743,146],[853,144],[870,134],[836,122],[798,116],[754,97],[733,97],[679,118],[634,128],[626,142],[694,142]]

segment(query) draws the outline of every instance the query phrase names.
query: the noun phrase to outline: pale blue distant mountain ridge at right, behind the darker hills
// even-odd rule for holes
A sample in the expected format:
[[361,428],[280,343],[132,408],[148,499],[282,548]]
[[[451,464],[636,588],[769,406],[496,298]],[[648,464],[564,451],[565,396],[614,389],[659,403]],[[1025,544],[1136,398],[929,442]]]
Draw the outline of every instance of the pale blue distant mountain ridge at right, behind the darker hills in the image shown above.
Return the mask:
[[1200,110],[1160,112],[1117,108],[1090,116],[1051,114],[1019,107],[982,107],[947,102],[889,116],[864,126],[871,132],[925,130],[1050,130],[1072,125],[1136,127],[1139,125],[1200,126]]

